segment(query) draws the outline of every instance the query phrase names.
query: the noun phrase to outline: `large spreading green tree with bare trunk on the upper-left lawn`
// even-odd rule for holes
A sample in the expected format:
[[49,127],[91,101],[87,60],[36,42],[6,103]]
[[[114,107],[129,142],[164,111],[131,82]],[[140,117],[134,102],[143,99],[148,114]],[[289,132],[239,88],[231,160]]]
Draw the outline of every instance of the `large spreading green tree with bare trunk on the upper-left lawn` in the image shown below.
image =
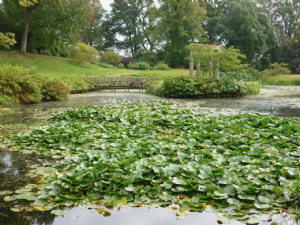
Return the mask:
[[22,53],[26,52],[31,23],[39,33],[46,31],[49,35],[51,31],[52,35],[72,39],[80,28],[89,26],[92,18],[90,0],[19,0],[19,4],[23,11]]

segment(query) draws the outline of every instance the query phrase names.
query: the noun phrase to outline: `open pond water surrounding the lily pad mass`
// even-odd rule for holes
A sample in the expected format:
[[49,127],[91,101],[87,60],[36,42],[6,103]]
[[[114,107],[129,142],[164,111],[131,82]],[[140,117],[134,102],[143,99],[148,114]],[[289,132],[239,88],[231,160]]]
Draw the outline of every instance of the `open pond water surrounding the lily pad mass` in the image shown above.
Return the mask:
[[[86,94],[71,95],[68,100],[59,102],[43,102],[32,105],[24,105],[16,108],[0,108],[0,137],[6,134],[16,133],[34,124],[42,122],[50,112],[71,107],[87,105],[107,104],[109,99],[149,100],[161,99],[145,93],[132,91],[117,92],[90,92]],[[178,105],[185,104],[190,109],[200,110],[211,115],[233,115],[238,113],[262,113],[271,116],[300,117],[300,87],[263,87],[260,95],[246,96],[243,98],[222,99],[179,99],[173,100]],[[25,176],[28,165],[42,164],[53,161],[52,158],[43,155],[23,154],[11,152],[7,149],[0,150],[0,191],[6,189],[16,190],[28,183],[35,182],[34,178]],[[187,220],[177,220],[175,214],[170,214],[167,208],[133,208],[124,207],[120,211],[112,210],[112,215],[104,217],[93,209],[84,206],[69,208],[65,216],[55,217],[51,211],[45,212],[21,212],[14,213],[10,210],[13,205],[22,202],[7,203],[0,197],[0,225],[25,224],[25,225],[76,225],[76,224],[218,224],[215,213],[190,212]],[[4,215],[1,215],[5,214]],[[290,221],[282,221],[280,216],[274,216],[273,221],[282,224],[292,224]],[[238,221],[234,225],[242,224]],[[260,222],[261,225],[269,225],[270,222]]]

